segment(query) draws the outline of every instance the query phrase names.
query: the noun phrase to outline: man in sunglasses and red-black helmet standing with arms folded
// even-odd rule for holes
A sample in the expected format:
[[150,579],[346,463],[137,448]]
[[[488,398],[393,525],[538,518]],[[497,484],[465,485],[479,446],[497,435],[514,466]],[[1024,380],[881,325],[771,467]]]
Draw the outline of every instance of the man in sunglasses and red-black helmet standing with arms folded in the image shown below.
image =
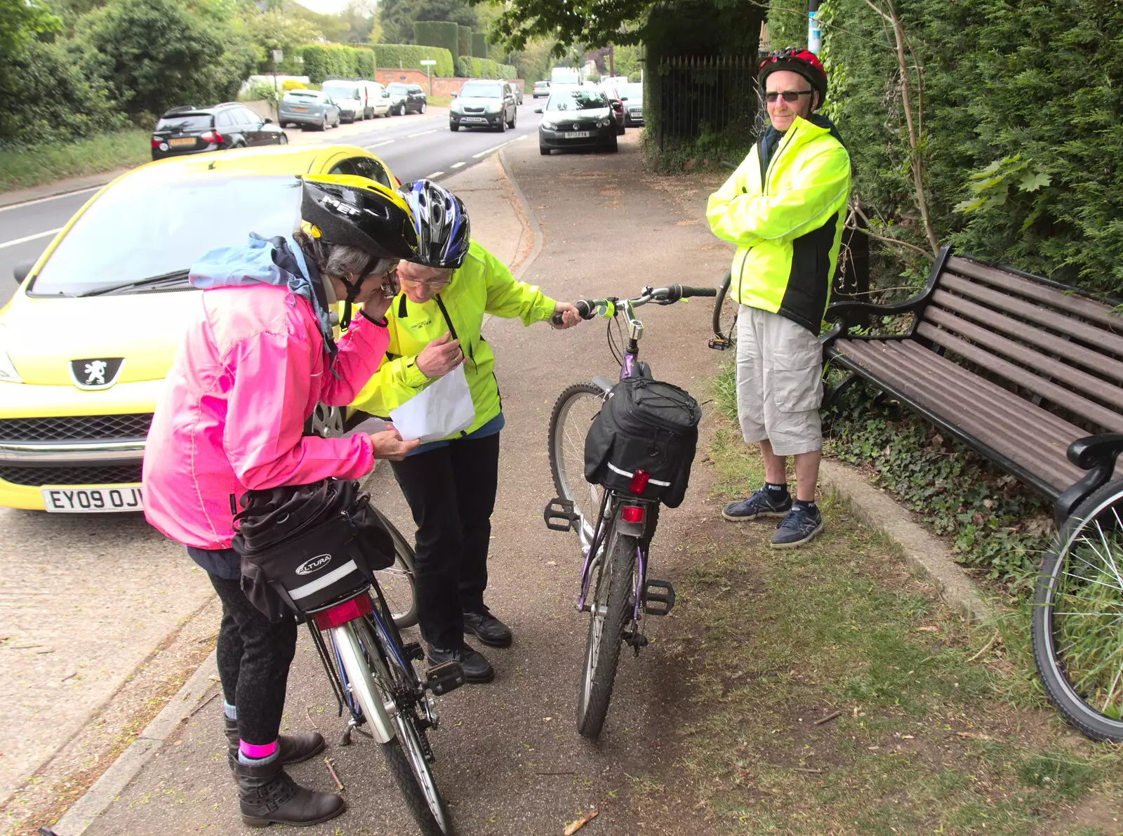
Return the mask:
[[[725,506],[729,520],[783,517],[776,548],[813,539],[822,456],[819,331],[838,262],[850,194],[850,157],[834,126],[814,111],[827,74],[814,54],[787,48],[760,64],[769,128],[710,196],[706,217],[737,245],[730,293],[737,317],[737,406],[747,443],[760,443],[765,485]],[[787,490],[795,458],[796,496]]]

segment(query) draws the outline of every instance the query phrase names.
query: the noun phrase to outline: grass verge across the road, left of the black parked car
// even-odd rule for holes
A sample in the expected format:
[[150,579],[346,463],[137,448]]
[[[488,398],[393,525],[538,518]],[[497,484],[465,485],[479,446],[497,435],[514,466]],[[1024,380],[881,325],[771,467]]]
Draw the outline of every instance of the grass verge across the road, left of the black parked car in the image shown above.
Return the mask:
[[27,145],[0,151],[0,191],[27,189],[65,178],[99,174],[152,160],[147,130],[119,130],[80,143]]

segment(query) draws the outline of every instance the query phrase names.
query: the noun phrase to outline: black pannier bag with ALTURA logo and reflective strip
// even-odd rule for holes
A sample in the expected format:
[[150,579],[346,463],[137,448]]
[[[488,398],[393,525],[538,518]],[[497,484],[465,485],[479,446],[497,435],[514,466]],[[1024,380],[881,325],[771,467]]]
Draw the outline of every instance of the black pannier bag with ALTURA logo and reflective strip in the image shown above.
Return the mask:
[[241,589],[276,621],[369,585],[394,562],[390,533],[354,480],[247,491],[231,543]]

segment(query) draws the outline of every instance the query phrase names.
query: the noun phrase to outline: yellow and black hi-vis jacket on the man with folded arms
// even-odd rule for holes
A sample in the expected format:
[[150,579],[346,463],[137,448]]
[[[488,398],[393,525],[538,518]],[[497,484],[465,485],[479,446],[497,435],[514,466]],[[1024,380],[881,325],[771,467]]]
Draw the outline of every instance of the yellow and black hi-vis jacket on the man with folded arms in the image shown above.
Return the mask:
[[706,218],[737,244],[730,296],[819,334],[850,194],[850,155],[825,118],[796,118],[761,172],[760,142],[710,196]]

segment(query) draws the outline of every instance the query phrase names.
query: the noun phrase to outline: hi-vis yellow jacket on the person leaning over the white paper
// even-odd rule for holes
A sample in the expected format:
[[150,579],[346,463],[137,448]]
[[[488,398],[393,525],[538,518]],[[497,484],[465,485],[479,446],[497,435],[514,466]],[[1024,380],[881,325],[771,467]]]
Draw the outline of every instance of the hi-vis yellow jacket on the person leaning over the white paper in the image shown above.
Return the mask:
[[424,389],[432,381],[417,367],[417,356],[433,339],[451,331],[467,357],[464,372],[476,407],[472,426],[455,437],[474,433],[500,412],[499,384],[493,374],[495,355],[480,333],[484,315],[519,317],[523,325],[531,325],[549,319],[554,305],[537,287],[517,282],[506,265],[472,242],[464,264],[454,271],[451,281],[436,298],[414,305],[399,293],[391,302],[386,311],[390,331],[386,357],[353,406],[385,417]]

